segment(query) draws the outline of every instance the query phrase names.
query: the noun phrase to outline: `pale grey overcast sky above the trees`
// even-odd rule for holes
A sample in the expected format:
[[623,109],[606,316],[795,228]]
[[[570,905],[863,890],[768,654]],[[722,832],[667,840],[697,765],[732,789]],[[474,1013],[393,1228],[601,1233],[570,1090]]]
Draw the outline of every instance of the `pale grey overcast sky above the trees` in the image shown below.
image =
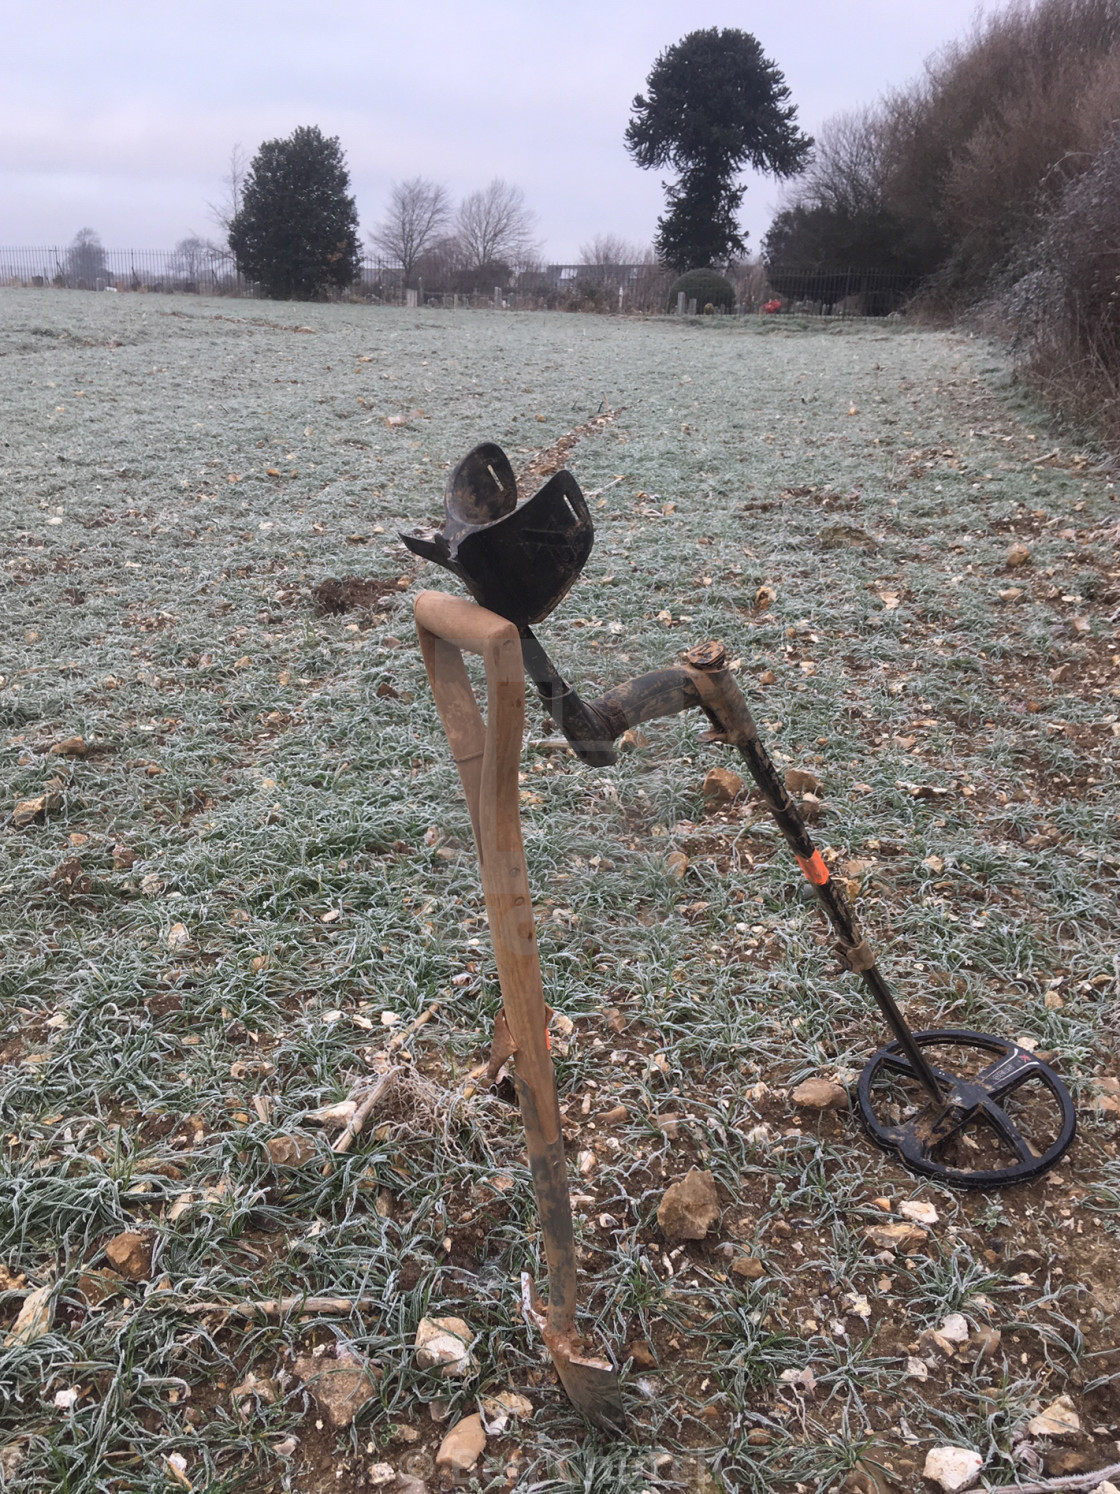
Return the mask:
[[[1002,9],[989,0],[984,9]],[[172,248],[218,236],[230,149],[317,124],[337,134],[363,233],[390,182],[458,196],[503,176],[545,258],[596,233],[648,244],[659,172],[623,148],[657,54],[700,27],[753,31],[799,123],[874,102],[965,34],[977,0],[0,0],[0,245]],[[781,203],[751,178],[750,247]]]

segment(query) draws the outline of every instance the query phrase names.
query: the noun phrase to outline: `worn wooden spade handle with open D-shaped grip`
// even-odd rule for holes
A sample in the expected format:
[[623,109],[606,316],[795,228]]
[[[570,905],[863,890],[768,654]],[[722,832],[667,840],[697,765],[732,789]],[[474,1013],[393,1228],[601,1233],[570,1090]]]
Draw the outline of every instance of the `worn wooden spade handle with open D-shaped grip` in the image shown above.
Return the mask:
[[[470,810],[502,1005],[515,1044],[514,1085],[548,1259],[548,1321],[554,1331],[566,1333],[575,1325],[575,1240],[521,843],[521,638],[506,619],[442,592],[421,592],[414,610],[432,695]],[[463,663],[464,651],[481,654],[485,665],[485,722]]]

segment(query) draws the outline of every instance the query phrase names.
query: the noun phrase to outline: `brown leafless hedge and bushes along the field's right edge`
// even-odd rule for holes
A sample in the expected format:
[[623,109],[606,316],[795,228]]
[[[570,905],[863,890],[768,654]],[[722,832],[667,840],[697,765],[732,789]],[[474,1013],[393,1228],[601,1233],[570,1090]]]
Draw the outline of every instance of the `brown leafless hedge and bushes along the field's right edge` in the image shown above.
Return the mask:
[[833,120],[763,242],[771,279],[895,267],[1120,439],[1120,0],[1014,0]]

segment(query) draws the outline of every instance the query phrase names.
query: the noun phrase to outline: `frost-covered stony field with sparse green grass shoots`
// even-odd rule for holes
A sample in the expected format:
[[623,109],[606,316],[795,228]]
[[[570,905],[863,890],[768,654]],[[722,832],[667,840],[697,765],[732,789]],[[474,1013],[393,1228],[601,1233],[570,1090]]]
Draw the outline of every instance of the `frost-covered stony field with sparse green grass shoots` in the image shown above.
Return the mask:
[[[1116,1461],[1120,1103],[1092,1080],[1120,1074],[1120,514],[990,348],[4,290],[0,409],[22,805],[0,831],[0,1322],[33,1319],[0,1348],[0,1488],[303,1494],[376,1463],[435,1488],[449,1422],[503,1389],[535,1415],[464,1487],[874,1490],[886,1466],[914,1490],[945,1443],[999,1485],[1032,1455],[1062,1472],[1024,1431],[1060,1394],[1065,1455]],[[791,1085],[850,1083],[881,1028],[765,813],[705,813],[702,723],[654,723],[606,771],[530,741],[621,1445],[585,1440],[518,1315],[532,1192],[515,1115],[470,1097],[497,989],[411,624],[418,586],[452,583],[396,541],[476,441],[529,463],[600,409],[566,459],[596,550],[539,629],[560,668],[594,690],[723,638],[780,762],[823,781],[818,838],[915,1023],[1029,1038],[1083,1109],[1048,1180],[987,1197],[918,1183],[854,1115],[794,1112]],[[312,587],[346,575],[381,604],[318,616]],[[308,1112],[432,1002],[405,1044],[429,1088],[332,1159]],[[657,1203],[693,1165],[723,1218],[671,1246]],[[869,1242],[884,1198],[933,1204],[912,1253]],[[206,1310],[293,1294],[360,1304]],[[476,1334],[466,1379],[414,1363],[447,1313]],[[971,1334],[948,1361],[920,1343],[947,1313]],[[317,1345],[379,1371],[343,1430],[297,1374]]]

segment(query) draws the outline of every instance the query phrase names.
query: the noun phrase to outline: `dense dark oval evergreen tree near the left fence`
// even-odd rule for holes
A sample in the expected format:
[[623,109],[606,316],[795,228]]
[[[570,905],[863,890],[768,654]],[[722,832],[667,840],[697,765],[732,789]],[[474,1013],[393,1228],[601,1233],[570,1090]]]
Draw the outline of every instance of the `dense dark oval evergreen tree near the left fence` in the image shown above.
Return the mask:
[[230,248],[273,300],[318,300],[357,276],[357,224],[337,136],[300,125],[252,158]]

